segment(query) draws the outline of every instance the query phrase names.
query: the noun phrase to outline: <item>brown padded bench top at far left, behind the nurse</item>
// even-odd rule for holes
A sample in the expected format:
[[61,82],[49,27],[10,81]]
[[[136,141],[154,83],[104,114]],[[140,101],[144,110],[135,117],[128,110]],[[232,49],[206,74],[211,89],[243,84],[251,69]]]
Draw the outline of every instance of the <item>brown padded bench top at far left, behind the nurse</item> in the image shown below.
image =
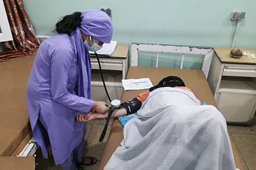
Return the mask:
[[0,62],[0,156],[10,156],[31,131],[26,90],[35,54]]

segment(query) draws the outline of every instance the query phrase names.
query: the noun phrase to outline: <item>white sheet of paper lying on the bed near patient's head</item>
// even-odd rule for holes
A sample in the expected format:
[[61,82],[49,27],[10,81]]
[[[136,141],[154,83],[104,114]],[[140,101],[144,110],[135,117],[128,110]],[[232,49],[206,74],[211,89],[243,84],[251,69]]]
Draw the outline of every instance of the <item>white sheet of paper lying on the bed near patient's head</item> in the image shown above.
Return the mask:
[[153,87],[149,78],[143,79],[127,79],[122,80],[123,88],[125,90],[141,90]]

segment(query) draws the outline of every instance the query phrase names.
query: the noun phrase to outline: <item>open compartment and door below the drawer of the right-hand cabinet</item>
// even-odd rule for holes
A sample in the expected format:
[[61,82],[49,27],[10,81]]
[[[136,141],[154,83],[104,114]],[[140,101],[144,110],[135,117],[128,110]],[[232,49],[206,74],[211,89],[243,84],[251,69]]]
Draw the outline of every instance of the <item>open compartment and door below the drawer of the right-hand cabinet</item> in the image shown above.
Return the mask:
[[228,122],[247,123],[255,113],[256,86],[250,78],[223,77],[216,102]]

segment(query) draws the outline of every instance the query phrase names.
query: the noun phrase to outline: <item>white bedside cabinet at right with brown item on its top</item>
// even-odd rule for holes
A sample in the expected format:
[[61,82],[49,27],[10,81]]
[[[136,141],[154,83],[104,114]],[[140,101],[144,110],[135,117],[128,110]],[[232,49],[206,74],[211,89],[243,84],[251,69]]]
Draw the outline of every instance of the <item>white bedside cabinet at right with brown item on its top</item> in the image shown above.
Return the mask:
[[[249,124],[256,111],[256,65],[253,59],[229,57],[231,48],[215,48],[208,83],[228,123]],[[252,49],[242,51],[256,52]]]

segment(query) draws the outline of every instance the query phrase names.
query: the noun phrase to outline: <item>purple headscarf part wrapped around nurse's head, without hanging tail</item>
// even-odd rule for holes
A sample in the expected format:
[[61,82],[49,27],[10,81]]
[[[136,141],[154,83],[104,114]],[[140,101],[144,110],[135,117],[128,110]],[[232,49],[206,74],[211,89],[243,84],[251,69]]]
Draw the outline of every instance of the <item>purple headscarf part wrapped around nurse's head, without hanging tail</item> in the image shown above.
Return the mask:
[[110,43],[113,26],[110,17],[100,10],[88,10],[81,14],[81,31],[103,43]]

